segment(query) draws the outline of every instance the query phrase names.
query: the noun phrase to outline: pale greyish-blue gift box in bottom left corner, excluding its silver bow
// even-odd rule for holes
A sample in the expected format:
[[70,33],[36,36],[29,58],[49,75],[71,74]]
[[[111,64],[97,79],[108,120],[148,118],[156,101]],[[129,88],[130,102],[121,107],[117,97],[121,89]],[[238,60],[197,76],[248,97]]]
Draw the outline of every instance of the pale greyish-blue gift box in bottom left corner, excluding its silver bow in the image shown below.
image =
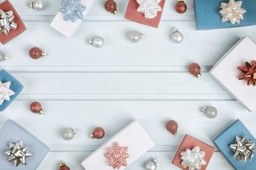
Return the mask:
[[[9,142],[16,144],[19,140],[23,140],[23,144],[28,147],[28,152],[31,152],[32,157],[26,159],[27,165],[14,165],[14,162],[8,162],[9,156],[5,154]],[[7,120],[0,130],[0,169],[1,170],[34,170],[42,162],[43,158],[49,151],[43,142],[38,140],[30,132],[22,128],[13,120]]]

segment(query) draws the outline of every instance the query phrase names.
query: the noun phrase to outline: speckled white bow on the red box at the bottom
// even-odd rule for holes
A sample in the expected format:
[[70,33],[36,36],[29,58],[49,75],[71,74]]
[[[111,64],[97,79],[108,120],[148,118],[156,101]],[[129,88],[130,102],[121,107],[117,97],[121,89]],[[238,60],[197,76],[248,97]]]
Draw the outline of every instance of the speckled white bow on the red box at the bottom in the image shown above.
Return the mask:
[[192,150],[186,149],[186,152],[181,152],[181,165],[189,170],[201,169],[202,165],[206,165],[206,160],[203,159],[206,153],[200,151],[200,147],[194,147]]

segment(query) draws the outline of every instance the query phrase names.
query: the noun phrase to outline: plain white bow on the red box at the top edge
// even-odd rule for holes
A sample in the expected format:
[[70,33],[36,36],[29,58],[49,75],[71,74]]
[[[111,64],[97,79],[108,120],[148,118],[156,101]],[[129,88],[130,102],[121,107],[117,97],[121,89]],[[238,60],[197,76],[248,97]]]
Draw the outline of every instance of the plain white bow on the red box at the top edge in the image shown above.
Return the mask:
[[144,13],[145,18],[155,18],[157,12],[162,11],[161,6],[159,6],[161,0],[137,0],[139,8],[138,12]]

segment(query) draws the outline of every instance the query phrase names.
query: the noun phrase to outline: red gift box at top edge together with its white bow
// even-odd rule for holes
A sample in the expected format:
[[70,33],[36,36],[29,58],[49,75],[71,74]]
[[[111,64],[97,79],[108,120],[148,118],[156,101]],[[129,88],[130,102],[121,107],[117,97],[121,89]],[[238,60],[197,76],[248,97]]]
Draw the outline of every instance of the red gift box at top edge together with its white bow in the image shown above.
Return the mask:
[[[124,18],[146,26],[158,28],[165,0],[129,0]],[[152,11],[152,8],[154,10]]]

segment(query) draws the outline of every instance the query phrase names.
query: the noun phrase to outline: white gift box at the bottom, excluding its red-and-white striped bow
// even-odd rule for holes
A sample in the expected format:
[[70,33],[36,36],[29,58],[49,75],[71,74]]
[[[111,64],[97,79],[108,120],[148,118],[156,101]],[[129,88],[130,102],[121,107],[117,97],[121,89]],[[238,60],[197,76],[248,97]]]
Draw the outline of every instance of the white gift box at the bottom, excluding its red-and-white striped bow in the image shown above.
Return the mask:
[[[151,137],[149,137],[144,128],[142,128],[142,125],[140,125],[137,120],[134,120],[87,157],[82,162],[82,166],[84,166],[86,170],[112,169],[111,166],[108,166],[108,159],[104,157],[104,154],[109,147],[113,147],[115,142],[118,142],[120,147],[129,148],[127,153],[130,157],[126,159],[128,166],[155,145]],[[121,166],[120,169],[125,168],[127,168],[127,166]]]

